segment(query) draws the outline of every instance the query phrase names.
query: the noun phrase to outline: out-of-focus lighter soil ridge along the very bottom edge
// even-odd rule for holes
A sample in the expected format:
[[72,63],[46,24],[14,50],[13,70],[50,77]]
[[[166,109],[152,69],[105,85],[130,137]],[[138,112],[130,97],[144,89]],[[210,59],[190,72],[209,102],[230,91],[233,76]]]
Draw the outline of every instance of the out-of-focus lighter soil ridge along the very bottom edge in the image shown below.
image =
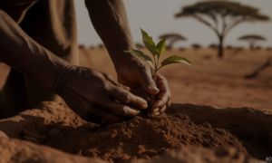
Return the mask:
[[[0,138],[1,163],[107,163],[100,158],[81,157],[19,139]],[[170,150],[159,159],[137,159],[131,163],[250,163],[262,162],[248,158],[235,149],[180,148]]]

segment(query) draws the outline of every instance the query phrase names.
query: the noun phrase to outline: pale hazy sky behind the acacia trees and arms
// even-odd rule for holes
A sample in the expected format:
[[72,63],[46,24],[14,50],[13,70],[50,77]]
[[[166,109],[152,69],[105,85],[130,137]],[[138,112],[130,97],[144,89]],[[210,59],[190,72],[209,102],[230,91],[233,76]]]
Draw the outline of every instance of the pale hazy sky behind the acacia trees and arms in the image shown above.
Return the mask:
[[[267,14],[272,20],[272,0],[234,0],[243,5],[252,5],[259,8],[261,14]],[[142,28],[153,37],[155,43],[159,42],[159,35],[165,33],[182,34],[187,41],[176,43],[176,47],[190,46],[199,43],[208,46],[218,43],[216,34],[205,24],[194,18],[174,18],[184,5],[192,5],[199,0],[123,0],[131,27],[131,34],[135,43],[141,43]],[[84,0],[75,0],[77,17],[78,43],[86,46],[98,45],[102,40],[96,34],[89,18]],[[267,38],[266,42],[259,42],[262,47],[272,46],[272,21],[242,23],[235,26],[225,38],[224,45],[248,47],[248,43],[237,41],[244,34],[259,34]]]

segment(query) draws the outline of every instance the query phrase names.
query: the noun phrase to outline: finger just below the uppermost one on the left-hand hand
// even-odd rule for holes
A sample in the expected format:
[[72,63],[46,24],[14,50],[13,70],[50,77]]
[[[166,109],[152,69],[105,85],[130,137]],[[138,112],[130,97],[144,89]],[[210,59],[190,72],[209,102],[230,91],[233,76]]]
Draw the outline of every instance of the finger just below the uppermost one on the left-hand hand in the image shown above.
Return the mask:
[[107,110],[118,118],[131,118],[140,113],[140,110],[124,105],[111,99],[103,101],[101,105],[103,110]]

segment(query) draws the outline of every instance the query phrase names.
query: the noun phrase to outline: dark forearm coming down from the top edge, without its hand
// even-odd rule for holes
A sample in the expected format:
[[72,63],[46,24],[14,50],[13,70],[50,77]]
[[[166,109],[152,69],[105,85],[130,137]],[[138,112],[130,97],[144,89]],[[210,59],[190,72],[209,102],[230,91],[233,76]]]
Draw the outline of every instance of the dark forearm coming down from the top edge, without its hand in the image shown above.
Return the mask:
[[122,51],[134,48],[122,0],[85,0],[85,4],[92,24],[102,38],[116,68],[123,58],[131,57],[130,53]]

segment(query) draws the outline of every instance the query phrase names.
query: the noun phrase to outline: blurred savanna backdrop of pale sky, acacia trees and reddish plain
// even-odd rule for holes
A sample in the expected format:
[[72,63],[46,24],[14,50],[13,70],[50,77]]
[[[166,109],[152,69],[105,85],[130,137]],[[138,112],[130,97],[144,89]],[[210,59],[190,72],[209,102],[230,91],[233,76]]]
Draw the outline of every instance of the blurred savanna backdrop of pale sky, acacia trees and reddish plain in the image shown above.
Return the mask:
[[[136,47],[142,28],[158,43],[168,38],[161,61],[170,55],[192,62],[160,69],[171,101],[219,108],[272,109],[271,0],[124,0]],[[80,64],[110,73],[114,66],[92,27],[83,0],[76,7]],[[0,64],[0,88],[9,67]]]

